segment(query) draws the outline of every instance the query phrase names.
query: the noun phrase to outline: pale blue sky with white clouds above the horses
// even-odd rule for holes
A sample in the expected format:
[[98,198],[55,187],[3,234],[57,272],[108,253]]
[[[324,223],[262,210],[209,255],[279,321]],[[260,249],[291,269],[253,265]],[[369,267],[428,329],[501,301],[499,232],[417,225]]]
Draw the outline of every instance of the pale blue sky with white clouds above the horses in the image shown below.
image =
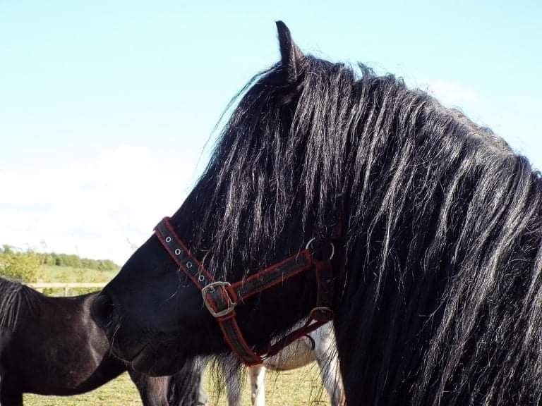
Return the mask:
[[278,19],[303,51],[401,75],[542,168],[540,1],[0,0],[0,243],[124,262],[277,61]]

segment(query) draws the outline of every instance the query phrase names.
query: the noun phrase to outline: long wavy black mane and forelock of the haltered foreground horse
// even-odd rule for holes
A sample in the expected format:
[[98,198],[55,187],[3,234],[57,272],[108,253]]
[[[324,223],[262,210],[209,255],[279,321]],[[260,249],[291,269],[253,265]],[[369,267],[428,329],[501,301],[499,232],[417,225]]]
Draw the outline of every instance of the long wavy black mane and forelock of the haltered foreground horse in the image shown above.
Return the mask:
[[193,235],[207,267],[267,264],[280,237],[342,219],[346,383],[372,405],[536,404],[538,173],[392,75],[303,63],[295,80],[280,63],[253,78],[219,138]]

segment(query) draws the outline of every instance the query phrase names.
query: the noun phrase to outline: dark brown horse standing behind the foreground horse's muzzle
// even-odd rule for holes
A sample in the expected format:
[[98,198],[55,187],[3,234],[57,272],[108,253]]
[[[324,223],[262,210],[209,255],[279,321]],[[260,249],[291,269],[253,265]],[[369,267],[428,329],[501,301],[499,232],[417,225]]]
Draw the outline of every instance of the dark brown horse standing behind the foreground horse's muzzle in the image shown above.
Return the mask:
[[[23,405],[23,393],[76,395],[127,370],[90,314],[97,293],[47,297],[0,278],[0,405]],[[145,406],[196,405],[200,366],[170,378],[128,369]]]

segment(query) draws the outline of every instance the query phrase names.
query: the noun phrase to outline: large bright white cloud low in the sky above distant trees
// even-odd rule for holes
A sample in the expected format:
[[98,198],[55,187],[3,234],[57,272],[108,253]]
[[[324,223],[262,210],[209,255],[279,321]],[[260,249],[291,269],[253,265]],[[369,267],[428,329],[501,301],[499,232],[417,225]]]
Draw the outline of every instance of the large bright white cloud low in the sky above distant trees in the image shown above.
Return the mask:
[[0,243],[122,264],[181,205],[196,159],[127,145],[56,164],[0,169]]

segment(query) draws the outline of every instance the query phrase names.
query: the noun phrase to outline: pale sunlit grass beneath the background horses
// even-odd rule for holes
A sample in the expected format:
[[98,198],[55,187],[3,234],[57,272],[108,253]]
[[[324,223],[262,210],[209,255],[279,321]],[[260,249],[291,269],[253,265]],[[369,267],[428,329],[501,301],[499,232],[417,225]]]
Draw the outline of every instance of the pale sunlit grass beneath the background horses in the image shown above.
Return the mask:
[[[209,404],[226,406],[225,395],[219,395],[208,378],[205,387],[209,394]],[[311,364],[308,367],[285,371],[277,374],[267,372],[265,376],[265,400],[267,406],[325,406],[329,405],[320,376],[318,366]],[[25,406],[139,406],[138,391],[133,386],[128,374],[107,383],[84,395],[61,398],[54,396],[25,395]],[[250,405],[248,382],[243,391],[243,405]]]

